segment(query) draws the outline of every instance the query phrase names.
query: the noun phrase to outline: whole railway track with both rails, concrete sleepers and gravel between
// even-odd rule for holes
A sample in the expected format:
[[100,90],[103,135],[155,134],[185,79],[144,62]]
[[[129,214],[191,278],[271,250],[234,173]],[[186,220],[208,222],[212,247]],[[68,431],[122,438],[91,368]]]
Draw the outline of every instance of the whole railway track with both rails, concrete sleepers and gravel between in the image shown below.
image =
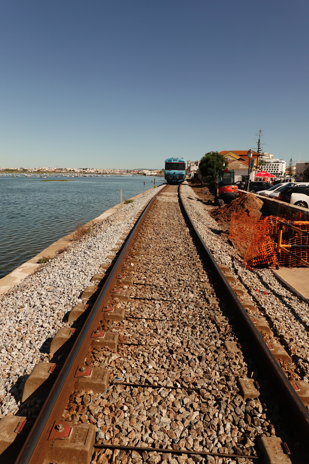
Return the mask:
[[140,212],[113,267],[94,276],[95,293],[85,289],[72,310],[72,327],[58,331],[50,362],[25,382],[29,409],[44,402],[38,417],[0,421],[7,462],[249,463],[263,452],[302,462],[307,409],[181,189],[165,187]]

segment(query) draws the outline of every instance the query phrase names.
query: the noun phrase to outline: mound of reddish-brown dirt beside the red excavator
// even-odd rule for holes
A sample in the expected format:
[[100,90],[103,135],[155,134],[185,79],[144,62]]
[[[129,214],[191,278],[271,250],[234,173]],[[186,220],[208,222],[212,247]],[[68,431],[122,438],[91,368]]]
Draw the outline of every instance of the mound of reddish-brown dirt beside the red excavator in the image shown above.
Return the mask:
[[257,198],[252,193],[246,193],[245,195],[232,200],[230,203],[219,208],[209,211],[211,217],[217,222],[219,221],[230,221],[231,214],[236,213],[247,213],[248,216],[255,216],[260,218],[262,213],[260,210],[264,205],[263,201]]

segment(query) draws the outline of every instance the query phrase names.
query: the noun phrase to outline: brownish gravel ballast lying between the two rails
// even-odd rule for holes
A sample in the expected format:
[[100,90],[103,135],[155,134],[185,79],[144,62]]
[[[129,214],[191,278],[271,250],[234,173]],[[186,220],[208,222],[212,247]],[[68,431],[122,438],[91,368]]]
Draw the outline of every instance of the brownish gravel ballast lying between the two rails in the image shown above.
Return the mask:
[[[96,451],[92,464],[235,463],[213,456],[173,457],[173,450],[231,453],[240,463],[252,462],[256,439],[276,434],[267,415],[278,407],[239,394],[238,380],[250,379],[258,369],[240,350],[227,351],[225,342],[237,341],[239,334],[222,317],[222,308],[208,303],[208,296],[216,296],[215,282],[185,223],[177,187],[156,199],[143,231],[130,301],[117,305],[126,309],[126,319],[98,328],[119,333],[118,351],[91,349],[86,360],[89,367],[108,368],[111,382],[138,385],[110,385],[100,396],[74,392],[62,419],[88,423],[89,413],[95,419],[98,443],[107,450]],[[170,453],[112,451],[108,445]]]

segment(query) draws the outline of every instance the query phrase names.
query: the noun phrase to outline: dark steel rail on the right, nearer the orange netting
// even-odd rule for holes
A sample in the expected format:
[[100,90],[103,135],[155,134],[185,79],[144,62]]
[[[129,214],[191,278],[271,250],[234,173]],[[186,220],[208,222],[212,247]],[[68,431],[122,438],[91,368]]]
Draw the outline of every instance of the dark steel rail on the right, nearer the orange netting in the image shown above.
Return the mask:
[[181,186],[179,186],[179,200],[185,215],[187,216],[187,219],[191,224],[195,235],[197,236],[202,249],[208,258],[208,261],[214,268],[214,271],[216,272],[217,277],[222,284],[222,289],[225,292],[225,296],[228,297],[228,302],[233,305],[233,307],[238,312],[238,315],[240,316],[240,325],[244,329],[246,338],[249,339],[253,347],[254,354],[259,361],[259,365],[262,368],[262,371],[266,371],[270,379],[274,382],[275,386],[277,386],[278,393],[281,393],[284,397],[284,406],[288,408],[290,417],[294,419],[299,436],[301,436],[305,443],[307,443],[309,440],[309,413],[307,409],[303,405],[302,401],[298,398],[289,380],[286,378],[284,372],[271,354],[271,351],[259,334],[259,331],[256,329],[250,317],[248,316],[246,309],[242,306],[236,294],[233,292],[232,287],[227,282],[223,272],[219,268],[213,255],[208,250],[208,247],[195,227],[195,224],[191,219],[187,208],[184,206],[183,199],[181,197]]

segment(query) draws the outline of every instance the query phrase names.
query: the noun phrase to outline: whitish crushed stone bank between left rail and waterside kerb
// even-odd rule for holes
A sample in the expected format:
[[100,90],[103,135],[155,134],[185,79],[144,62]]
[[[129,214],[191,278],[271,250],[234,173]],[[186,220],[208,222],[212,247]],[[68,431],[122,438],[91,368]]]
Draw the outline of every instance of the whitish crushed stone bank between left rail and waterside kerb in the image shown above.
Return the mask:
[[63,316],[82,303],[79,296],[100,264],[110,262],[107,255],[131,229],[136,213],[162,188],[123,205],[78,242],[70,242],[68,251],[0,296],[0,418],[18,411],[28,374],[38,362],[48,362],[51,339],[69,326]]

